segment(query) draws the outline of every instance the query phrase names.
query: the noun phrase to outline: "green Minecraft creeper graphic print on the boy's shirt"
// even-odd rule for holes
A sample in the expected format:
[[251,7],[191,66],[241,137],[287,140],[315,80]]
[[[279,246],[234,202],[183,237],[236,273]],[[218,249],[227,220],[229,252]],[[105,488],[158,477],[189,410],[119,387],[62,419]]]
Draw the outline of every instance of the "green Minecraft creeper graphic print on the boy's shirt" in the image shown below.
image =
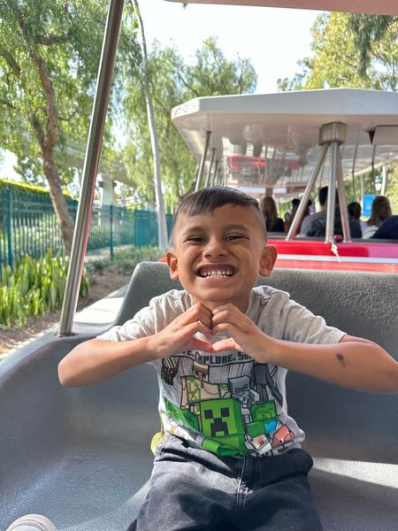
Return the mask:
[[239,351],[188,350],[163,360],[165,431],[221,456],[285,451],[295,427],[282,420],[277,374],[278,367]]

